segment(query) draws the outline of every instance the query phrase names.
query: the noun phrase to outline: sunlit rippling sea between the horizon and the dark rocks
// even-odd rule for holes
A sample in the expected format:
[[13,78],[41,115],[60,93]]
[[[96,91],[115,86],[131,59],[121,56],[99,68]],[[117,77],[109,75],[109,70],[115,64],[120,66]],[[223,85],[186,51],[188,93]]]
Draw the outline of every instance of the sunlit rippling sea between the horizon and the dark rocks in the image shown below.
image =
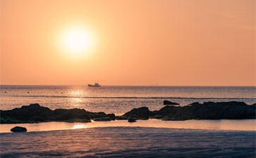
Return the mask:
[[123,114],[134,107],[159,110],[164,100],[188,105],[193,102],[242,101],[256,103],[250,86],[0,86],[1,110],[39,103],[56,108],[85,108],[92,112]]

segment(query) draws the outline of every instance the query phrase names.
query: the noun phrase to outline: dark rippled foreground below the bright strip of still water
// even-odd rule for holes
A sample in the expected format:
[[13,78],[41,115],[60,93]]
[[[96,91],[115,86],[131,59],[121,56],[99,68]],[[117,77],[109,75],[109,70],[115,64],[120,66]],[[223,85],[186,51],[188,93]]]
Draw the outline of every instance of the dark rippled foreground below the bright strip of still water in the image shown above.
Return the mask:
[[1,157],[255,157],[255,131],[97,127],[1,133]]

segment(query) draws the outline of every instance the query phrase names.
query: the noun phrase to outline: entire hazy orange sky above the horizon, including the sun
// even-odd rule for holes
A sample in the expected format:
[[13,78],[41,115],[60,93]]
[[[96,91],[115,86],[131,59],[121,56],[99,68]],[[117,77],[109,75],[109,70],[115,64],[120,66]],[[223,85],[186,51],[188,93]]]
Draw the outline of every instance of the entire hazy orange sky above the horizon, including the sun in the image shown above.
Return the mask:
[[255,0],[0,1],[0,84],[256,86]]

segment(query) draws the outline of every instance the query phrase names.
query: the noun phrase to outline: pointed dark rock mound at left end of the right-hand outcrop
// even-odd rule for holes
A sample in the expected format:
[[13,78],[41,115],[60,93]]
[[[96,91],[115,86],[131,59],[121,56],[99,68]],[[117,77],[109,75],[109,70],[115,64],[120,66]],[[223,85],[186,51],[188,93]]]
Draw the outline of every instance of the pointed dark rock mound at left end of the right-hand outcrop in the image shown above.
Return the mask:
[[149,119],[150,114],[151,114],[151,112],[148,109],[148,107],[139,107],[139,108],[130,110],[130,112],[126,112],[126,114],[123,114],[123,116],[124,117],[134,117],[137,119]]

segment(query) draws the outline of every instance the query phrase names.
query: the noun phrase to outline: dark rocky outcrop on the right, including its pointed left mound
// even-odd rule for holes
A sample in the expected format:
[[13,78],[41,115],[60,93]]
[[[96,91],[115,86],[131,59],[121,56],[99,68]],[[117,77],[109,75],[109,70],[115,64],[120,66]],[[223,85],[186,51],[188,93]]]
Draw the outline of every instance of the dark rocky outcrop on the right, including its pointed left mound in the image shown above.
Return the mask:
[[[185,107],[165,106],[161,110],[153,112],[150,112],[146,107],[143,107],[143,110],[140,110],[140,108],[135,108],[123,116],[136,119],[154,118],[173,121],[187,119],[256,119],[255,104],[246,105],[243,102],[234,101],[192,103]],[[147,112],[145,112],[146,109]],[[141,114],[143,114],[143,117]]]

